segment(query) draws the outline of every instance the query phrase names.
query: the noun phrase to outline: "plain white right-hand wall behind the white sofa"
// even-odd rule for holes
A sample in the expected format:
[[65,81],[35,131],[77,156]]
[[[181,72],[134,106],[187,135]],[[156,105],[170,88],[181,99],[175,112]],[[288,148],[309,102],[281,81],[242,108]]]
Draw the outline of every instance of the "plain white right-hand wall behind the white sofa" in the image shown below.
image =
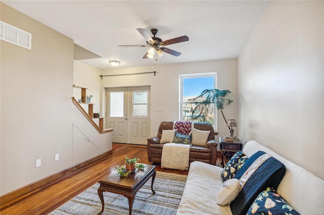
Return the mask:
[[239,137],[324,179],[323,1],[271,1],[238,58]]

